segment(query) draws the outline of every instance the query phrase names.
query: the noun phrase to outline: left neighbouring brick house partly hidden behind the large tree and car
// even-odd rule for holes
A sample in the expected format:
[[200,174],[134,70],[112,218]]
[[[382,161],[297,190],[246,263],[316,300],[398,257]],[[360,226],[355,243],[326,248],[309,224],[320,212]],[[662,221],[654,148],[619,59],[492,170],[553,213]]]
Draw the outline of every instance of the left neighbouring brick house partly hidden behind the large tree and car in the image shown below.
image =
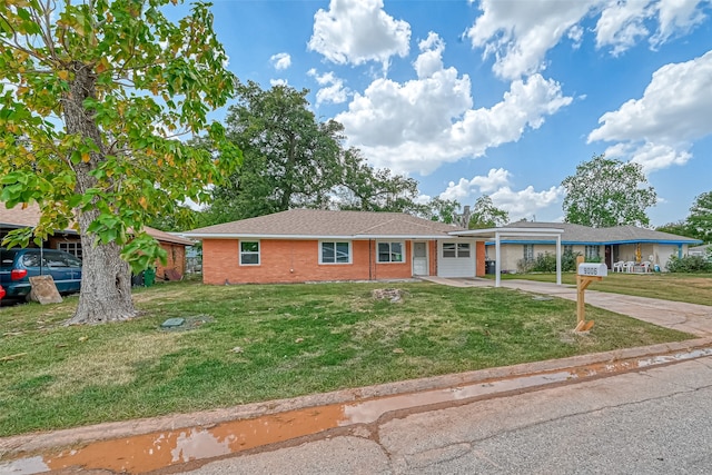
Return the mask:
[[[37,205],[30,205],[22,209],[22,205],[14,208],[6,208],[4,202],[0,202],[0,241],[12,229],[32,228],[40,220],[40,210]],[[191,240],[179,236],[174,236],[158,229],[146,226],[146,232],[158,240],[160,246],[166,250],[168,259],[164,266],[160,261],[156,261],[156,275],[164,278],[167,270],[174,270],[181,276],[186,273],[186,247],[191,246]],[[34,244],[30,244],[34,246]],[[81,239],[76,229],[56,230],[43,243],[46,248],[60,249],[81,258]]]

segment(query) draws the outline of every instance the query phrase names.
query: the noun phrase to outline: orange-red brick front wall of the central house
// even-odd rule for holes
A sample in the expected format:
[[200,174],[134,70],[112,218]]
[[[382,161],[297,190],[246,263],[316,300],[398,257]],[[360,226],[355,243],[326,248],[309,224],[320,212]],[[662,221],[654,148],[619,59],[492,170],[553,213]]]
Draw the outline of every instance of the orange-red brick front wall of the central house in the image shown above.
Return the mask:
[[[319,264],[317,240],[261,239],[258,266],[240,266],[238,241],[202,241],[205,284],[301,283],[309,280],[368,280],[409,278],[411,243],[405,263],[377,264],[376,241],[352,241],[352,264]],[[369,258],[370,256],[370,258]]]

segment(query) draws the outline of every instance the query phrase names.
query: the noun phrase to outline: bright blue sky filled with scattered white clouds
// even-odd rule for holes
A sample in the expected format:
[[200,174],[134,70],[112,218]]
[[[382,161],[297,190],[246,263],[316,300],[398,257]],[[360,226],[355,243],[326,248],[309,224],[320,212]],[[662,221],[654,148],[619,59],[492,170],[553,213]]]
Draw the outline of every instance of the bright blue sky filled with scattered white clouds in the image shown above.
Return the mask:
[[309,89],[347,146],[418,180],[424,199],[487,194],[513,220],[561,220],[561,181],[602,152],[643,166],[654,226],[712,190],[712,0],[217,0],[212,11],[240,80]]

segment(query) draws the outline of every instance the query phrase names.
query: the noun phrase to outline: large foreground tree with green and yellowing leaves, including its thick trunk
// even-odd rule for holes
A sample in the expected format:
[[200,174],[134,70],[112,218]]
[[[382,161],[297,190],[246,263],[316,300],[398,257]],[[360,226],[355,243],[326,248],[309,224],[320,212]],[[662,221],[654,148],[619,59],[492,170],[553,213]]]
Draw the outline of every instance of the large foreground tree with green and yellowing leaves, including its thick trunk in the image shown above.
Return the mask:
[[[41,210],[6,244],[77,228],[83,276],[70,323],[136,316],[129,265],[165,258],[144,222],[207,198],[239,161],[207,120],[236,86],[209,4],[176,24],[169,1],[0,2],[0,199]],[[219,161],[180,140],[206,132]]]

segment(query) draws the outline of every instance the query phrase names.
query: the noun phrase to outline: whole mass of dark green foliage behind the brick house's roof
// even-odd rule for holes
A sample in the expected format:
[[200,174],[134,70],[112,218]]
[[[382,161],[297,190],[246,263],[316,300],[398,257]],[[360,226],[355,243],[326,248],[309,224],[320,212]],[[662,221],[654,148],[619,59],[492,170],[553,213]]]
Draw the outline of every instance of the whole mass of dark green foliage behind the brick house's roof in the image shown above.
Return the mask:
[[215,201],[199,219],[202,226],[291,208],[422,211],[417,181],[374,169],[358,149],[344,150],[343,126],[320,122],[309,110],[307,93],[288,86],[263,90],[251,81],[239,85],[227,129],[244,150],[244,162],[215,188]]

